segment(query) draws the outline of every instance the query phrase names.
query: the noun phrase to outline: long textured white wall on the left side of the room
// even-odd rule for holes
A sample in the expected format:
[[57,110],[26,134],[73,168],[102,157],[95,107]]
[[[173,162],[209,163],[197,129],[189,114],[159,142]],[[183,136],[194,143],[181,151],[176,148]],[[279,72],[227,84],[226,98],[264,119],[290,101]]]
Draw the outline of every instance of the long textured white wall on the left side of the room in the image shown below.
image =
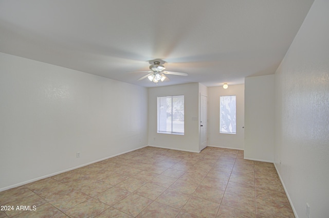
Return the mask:
[[0,53],[0,190],[147,145],[147,110],[147,88]]

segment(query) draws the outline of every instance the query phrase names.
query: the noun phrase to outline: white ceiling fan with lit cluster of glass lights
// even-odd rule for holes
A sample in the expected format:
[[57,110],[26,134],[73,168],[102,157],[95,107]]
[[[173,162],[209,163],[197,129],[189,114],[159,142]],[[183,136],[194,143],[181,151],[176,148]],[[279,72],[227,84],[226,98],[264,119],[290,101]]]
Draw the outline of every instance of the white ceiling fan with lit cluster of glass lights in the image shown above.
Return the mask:
[[[162,61],[162,60],[161,60]],[[162,61],[163,63],[166,63],[165,61]],[[139,78],[138,80],[143,80],[145,78],[148,78],[151,82],[163,82],[168,77],[165,76],[165,74],[171,74],[171,75],[178,75],[178,76],[188,76],[185,72],[173,72],[173,71],[163,71],[166,67],[160,64],[160,61],[154,61],[153,64],[150,65],[150,70],[152,71],[134,71],[134,72],[149,72],[149,74]]]

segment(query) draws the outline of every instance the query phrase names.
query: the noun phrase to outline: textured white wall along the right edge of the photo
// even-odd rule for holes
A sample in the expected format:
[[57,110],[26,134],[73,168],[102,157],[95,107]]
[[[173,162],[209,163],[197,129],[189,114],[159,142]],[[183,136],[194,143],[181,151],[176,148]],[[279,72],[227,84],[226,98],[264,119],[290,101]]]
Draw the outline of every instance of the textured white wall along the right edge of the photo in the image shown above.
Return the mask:
[[329,214],[328,11],[314,2],[275,75],[275,164],[300,218],[306,203],[310,217]]

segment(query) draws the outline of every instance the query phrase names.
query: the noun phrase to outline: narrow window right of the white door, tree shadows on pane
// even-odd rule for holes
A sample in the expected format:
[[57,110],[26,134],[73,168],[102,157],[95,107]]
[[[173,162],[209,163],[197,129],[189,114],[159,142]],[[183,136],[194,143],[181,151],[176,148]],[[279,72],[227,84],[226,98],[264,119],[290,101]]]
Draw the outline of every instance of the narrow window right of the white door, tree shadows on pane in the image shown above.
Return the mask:
[[236,96],[221,96],[220,133],[236,134]]

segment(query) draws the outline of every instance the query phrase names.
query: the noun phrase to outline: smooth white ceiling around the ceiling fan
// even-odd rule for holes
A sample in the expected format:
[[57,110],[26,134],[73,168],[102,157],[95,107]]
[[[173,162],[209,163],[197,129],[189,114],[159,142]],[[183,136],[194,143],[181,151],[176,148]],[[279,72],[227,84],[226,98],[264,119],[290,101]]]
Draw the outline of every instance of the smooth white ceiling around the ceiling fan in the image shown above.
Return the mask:
[[314,0],[0,0],[0,52],[145,87],[274,74]]

